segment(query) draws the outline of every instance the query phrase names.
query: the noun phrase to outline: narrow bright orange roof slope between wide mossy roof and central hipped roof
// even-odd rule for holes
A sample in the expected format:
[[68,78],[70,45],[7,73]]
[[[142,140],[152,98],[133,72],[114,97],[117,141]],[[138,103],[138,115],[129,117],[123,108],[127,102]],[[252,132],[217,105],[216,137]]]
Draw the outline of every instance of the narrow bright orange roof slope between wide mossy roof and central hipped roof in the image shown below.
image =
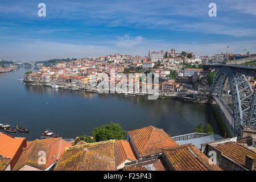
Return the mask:
[[125,160],[137,160],[133,148],[127,140],[115,140],[116,164],[119,166]]

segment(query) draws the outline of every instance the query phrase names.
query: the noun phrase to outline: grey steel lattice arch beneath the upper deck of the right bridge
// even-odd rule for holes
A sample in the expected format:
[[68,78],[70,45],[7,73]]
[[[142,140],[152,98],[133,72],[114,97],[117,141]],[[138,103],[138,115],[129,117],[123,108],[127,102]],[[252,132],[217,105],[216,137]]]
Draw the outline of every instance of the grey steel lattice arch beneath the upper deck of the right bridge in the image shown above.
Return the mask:
[[[227,79],[232,94],[232,109],[222,100]],[[241,126],[256,129],[256,95],[245,75],[233,72],[229,67],[218,69],[210,89],[210,96],[221,101],[225,108],[228,108],[232,121],[228,120],[235,136],[240,134]]]

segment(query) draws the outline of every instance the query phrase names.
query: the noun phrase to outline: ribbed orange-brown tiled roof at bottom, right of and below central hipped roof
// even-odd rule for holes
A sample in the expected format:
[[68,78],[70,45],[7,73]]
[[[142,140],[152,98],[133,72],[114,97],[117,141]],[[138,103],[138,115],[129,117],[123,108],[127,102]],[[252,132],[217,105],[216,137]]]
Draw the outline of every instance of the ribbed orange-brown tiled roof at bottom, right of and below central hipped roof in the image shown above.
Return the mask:
[[221,168],[209,164],[209,159],[192,144],[184,144],[163,150],[163,158],[175,171],[221,171]]

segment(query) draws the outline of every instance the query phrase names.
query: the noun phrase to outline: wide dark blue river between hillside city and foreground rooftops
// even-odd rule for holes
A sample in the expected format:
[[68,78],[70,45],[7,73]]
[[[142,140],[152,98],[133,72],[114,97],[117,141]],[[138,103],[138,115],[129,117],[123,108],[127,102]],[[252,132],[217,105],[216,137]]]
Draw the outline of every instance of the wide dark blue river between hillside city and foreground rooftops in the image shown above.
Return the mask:
[[213,112],[215,106],[19,84],[17,79],[26,71],[20,68],[0,76],[0,123],[30,130],[15,136],[30,140],[51,129],[64,138],[75,138],[92,135],[94,127],[109,122],[120,123],[125,130],[153,125],[172,136],[192,133],[199,123],[210,123],[223,135]]

